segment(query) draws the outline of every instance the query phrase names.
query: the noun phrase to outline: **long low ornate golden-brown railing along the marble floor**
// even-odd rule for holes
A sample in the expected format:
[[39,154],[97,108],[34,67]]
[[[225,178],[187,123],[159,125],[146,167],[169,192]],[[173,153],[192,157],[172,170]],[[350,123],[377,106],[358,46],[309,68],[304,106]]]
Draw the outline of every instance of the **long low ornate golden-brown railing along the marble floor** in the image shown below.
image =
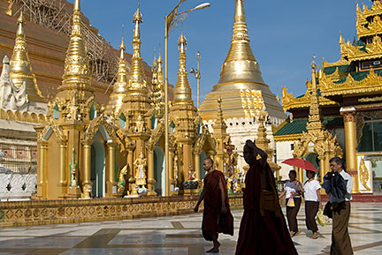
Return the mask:
[[[229,198],[231,209],[242,208],[242,194]],[[192,214],[198,199],[181,196],[0,202],[0,227]],[[202,211],[203,204],[199,208]]]

